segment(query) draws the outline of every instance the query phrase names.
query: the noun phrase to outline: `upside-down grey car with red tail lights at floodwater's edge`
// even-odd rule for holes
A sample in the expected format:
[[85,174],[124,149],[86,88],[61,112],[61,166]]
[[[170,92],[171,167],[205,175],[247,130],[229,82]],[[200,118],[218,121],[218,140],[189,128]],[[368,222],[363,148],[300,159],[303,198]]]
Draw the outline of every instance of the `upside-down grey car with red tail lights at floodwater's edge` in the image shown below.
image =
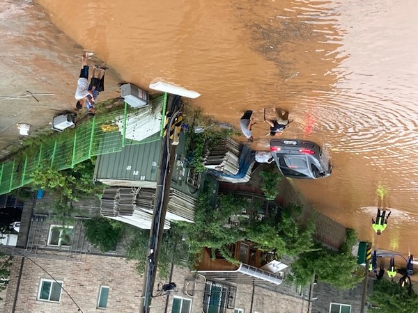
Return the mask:
[[311,141],[272,139],[270,152],[286,177],[316,179],[331,175],[332,166],[321,148]]

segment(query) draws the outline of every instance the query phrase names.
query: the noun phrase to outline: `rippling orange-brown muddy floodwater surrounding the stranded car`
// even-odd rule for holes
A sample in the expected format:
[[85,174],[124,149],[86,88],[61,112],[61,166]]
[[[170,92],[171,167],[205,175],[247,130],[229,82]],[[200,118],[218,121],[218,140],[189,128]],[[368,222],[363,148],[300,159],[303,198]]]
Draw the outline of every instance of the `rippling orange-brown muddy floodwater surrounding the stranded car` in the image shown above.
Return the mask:
[[[164,79],[238,127],[273,106],[282,135],[323,145],[333,173],[293,180],[314,206],[376,248],[418,255],[418,6],[388,1],[38,0],[52,22],[122,79]],[[255,125],[253,148],[267,150]],[[392,210],[375,236],[379,196]]]

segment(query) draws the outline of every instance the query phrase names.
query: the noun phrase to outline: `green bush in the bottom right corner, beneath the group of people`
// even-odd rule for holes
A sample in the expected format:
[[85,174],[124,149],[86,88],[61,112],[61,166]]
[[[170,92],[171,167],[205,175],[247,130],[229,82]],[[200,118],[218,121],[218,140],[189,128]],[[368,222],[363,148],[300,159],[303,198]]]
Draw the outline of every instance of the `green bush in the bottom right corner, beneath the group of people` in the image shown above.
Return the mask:
[[389,280],[376,280],[373,284],[373,294],[369,299],[373,303],[370,312],[380,313],[417,313],[418,296],[408,288],[401,288],[396,282]]

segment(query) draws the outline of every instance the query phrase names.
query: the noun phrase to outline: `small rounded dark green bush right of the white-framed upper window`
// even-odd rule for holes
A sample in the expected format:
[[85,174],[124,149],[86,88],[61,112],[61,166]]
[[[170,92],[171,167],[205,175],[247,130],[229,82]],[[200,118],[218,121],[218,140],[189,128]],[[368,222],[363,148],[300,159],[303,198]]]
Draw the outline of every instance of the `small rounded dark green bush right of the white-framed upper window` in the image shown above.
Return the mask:
[[123,223],[104,217],[85,220],[84,227],[88,241],[102,252],[114,250],[123,234]]

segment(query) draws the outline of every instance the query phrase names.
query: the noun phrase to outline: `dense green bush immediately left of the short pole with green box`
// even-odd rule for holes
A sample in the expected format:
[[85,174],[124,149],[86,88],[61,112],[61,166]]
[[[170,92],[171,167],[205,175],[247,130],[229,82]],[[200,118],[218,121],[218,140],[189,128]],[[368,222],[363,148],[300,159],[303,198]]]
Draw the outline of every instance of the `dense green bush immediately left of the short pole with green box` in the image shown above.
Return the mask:
[[351,255],[353,245],[346,244],[340,251],[325,248],[320,244],[314,248],[316,250],[299,255],[299,259],[291,266],[291,278],[297,284],[309,284],[315,274],[318,275],[318,280],[332,284],[337,289],[350,289],[362,281],[364,268],[359,266],[356,257]]

